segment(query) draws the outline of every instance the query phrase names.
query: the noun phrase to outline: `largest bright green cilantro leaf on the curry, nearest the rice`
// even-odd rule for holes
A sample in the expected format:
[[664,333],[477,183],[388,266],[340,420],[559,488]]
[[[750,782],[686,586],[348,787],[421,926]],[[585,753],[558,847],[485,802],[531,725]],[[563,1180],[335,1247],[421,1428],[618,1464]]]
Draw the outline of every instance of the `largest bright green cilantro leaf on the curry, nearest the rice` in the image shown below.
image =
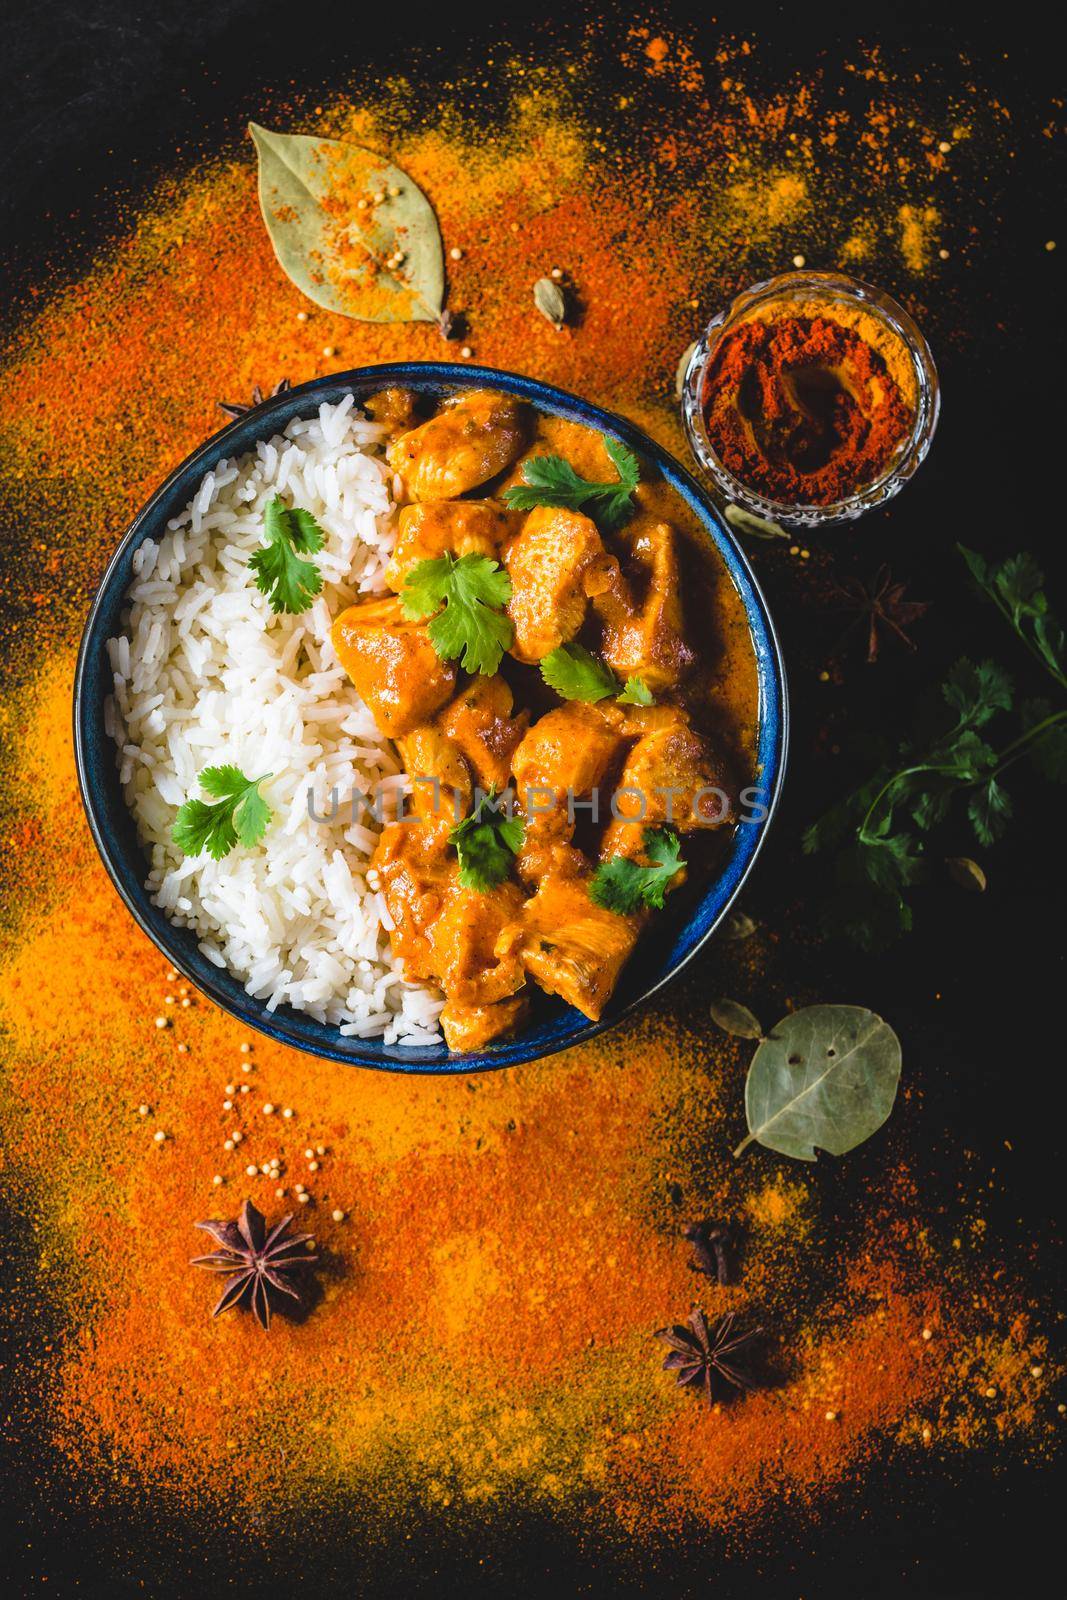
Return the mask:
[[488,555],[445,554],[413,566],[400,603],[405,616],[432,616],[430,643],[443,661],[462,658],[467,672],[491,677],[515,637],[502,610],[510,597],[510,578]]

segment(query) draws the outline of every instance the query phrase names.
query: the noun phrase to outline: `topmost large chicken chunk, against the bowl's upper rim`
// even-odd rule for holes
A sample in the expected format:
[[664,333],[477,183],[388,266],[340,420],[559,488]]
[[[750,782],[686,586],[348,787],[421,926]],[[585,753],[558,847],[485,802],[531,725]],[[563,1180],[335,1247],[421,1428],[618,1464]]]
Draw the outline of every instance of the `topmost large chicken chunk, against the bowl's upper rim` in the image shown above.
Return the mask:
[[467,494],[504,472],[523,450],[526,406],[494,389],[472,389],[389,446],[394,472],[418,501]]

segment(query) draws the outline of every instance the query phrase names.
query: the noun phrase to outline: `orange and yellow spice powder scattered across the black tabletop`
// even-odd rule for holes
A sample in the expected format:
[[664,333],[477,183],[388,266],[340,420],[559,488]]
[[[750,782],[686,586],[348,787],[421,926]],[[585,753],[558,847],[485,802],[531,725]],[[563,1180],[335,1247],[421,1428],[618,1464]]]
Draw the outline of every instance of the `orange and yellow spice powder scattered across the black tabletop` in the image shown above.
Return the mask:
[[[953,211],[929,158],[939,130],[904,91],[872,82],[849,120],[809,83],[761,98],[750,54],[701,64],[665,35],[632,35],[633,139],[576,109],[581,74],[520,61],[491,136],[458,98],[405,123],[403,94],[374,110],[365,85],[358,109],[266,120],[387,152],[426,189],[446,250],[462,250],[448,306],[478,360],[605,402],[681,453],[673,373],[707,314],[784,267],[798,238],[825,266],[862,243],[872,274],[921,302],[912,274],[929,251],[913,221],[902,245],[902,206],[933,230],[939,184],[937,216]],[[643,99],[664,82],[673,120]],[[981,96],[955,107],[958,123],[981,117]],[[851,174],[841,187],[827,152]],[[553,267],[574,307],[560,331],[531,293]],[[992,1430],[1043,1450],[1057,1418],[1040,1317],[1006,1277],[993,1296],[977,1238],[966,1270],[945,1270],[961,1256],[925,1211],[907,1099],[846,1235],[822,1163],[729,1157],[749,1046],[710,1030],[705,997],[713,982],[784,1010],[776,930],[717,946],[595,1045],[440,1080],[250,1038],[120,909],[82,819],[69,696],[122,526],[216,427],[216,398],[453,355],[432,325],[358,323],[302,299],[270,251],[245,147],[178,171],[83,274],[45,282],[6,352],[0,486],[18,506],[10,590],[24,621],[13,646],[5,635],[0,709],[0,1109],[3,1181],[43,1242],[26,1293],[61,1330],[37,1432],[78,1493],[102,1499],[141,1483],[234,1518],[302,1504],[307,1528],[331,1498],[387,1520],[514,1493],[635,1536],[693,1518],[744,1528],[753,1507],[816,1499],[885,1448],[968,1448]],[[245,1176],[274,1155],[280,1184]],[[235,1216],[246,1194],[274,1219],[296,1181],[325,1258],[317,1304],[267,1336],[248,1317],[211,1322],[214,1285],[187,1266],[192,1224]],[[680,1229],[702,1216],[742,1230],[736,1286],[689,1270]],[[709,1414],[672,1386],[651,1333],[693,1298],[709,1314],[760,1307],[774,1387]]]

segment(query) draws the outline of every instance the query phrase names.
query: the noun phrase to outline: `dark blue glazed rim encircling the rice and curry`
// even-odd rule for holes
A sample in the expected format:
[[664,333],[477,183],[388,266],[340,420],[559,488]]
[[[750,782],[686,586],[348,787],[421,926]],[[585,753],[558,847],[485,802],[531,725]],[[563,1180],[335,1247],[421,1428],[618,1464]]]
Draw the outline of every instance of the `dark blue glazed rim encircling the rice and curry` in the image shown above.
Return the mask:
[[[264,1002],[248,995],[240,979],[229,973],[229,970],[226,970],[226,974],[234,984],[238,986],[238,994],[227,992],[213,979],[216,968],[206,960],[206,957],[203,958],[206,971],[194,970],[181,942],[178,939],[171,942],[166,936],[166,930],[173,930],[174,934],[190,934],[190,930],[174,928],[166,915],[158,910],[158,907],[152,906],[142,880],[128,880],[128,875],[123,872],[120,853],[112,848],[112,842],[104,827],[106,816],[109,814],[107,808],[101,805],[98,814],[98,795],[93,784],[91,728],[102,718],[102,704],[90,702],[91,696],[88,678],[96,661],[96,651],[102,651],[106,637],[110,637],[109,634],[102,634],[104,611],[110,610],[114,602],[114,586],[117,578],[122,574],[126,554],[149,536],[147,525],[168,510],[166,502],[181,483],[195,483],[219,459],[227,456],[227,440],[237,442],[240,438],[242,443],[238,445],[238,453],[245,454],[250,448],[254,448],[256,440],[270,438],[274,432],[280,432],[294,416],[314,414],[317,405],[326,402],[336,403],[347,392],[357,392],[358,403],[358,390],[363,390],[365,397],[366,394],[374,392],[374,389],[389,386],[421,387],[426,390],[498,387],[526,400],[536,410],[581,422],[587,427],[595,427],[600,432],[606,432],[640,451],[640,454],[643,454],[657,469],[664,480],[681,494],[697,515],[699,522],[704,525],[709,538],[715,541],[726,565],[729,581],[741,594],[749,624],[749,635],[757,656],[757,674],[760,678],[757,766],[761,768],[760,782],[766,782],[766,787],[769,789],[765,802],[766,816],[753,829],[755,837],[747,848],[747,853],[742,854],[739,866],[739,848],[734,845],[731,854],[723,862],[721,874],[709,883],[702,899],[694,906],[693,912],[686,918],[686,925],[699,915],[701,909],[713,896],[717,886],[721,886],[731,875],[736,882],[733,882],[729,890],[721,894],[720,902],[707,917],[707,926],[696,938],[691,949],[688,949],[680,960],[670,966],[670,970],[661,973],[651,984],[641,987],[640,992],[633,994],[629,1000],[624,1000],[616,1006],[609,1005],[605,1016],[595,1022],[589,1018],[582,1018],[581,1013],[573,1011],[573,1008],[563,1006],[565,1018],[574,1016],[579,1021],[576,1021],[573,1027],[560,1032],[558,1037],[552,1037],[547,1042],[541,1040],[531,1048],[523,1043],[523,1034],[518,1034],[512,1040],[506,1040],[499,1046],[470,1053],[448,1051],[442,1050],[442,1046],[382,1045],[381,1040],[346,1037],[333,1024],[328,1024],[330,1034],[325,1040],[310,1040],[306,1037],[307,1026],[325,1027],[325,1024],[317,1024],[314,1018],[302,1011],[296,1011],[288,1005],[278,1006],[275,1011],[267,1011]],[[170,515],[174,515],[176,509],[179,507],[170,507]],[[749,587],[749,594],[744,592],[745,584]],[[123,597],[128,587],[130,584],[126,579],[123,582]],[[250,406],[248,411],[242,413],[242,416],[235,418],[216,434],[211,434],[189,456],[179,461],[136,512],[99,579],[90,603],[85,627],[82,630],[74,678],[72,710],[78,790],[90,824],[93,843],[126,910],[134,918],[141,931],[147,934],[152,944],[170,960],[171,966],[174,966],[189,982],[213,1000],[214,1005],[221,1006],[237,1021],[275,1042],[301,1050],[306,1054],[317,1056],[318,1059],[336,1061],[344,1066],[363,1066],[382,1072],[422,1072],[432,1075],[491,1072],[502,1067],[522,1066],[528,1061],[547,1059],[563,1050],[582,1045],[590,1038],[595,1038],[598,1034],[603,1034],[606,1029],[614,1027],[624,1018],[630,1016],[638,1006],[645,1005],[665,989],[665,986],[670,984],[704,949],[715,930],[721,925],[729,907],[744,888],[760,851],[763,850],[768,830],[777,811],[785,778],[790,722],[785,664],[766,598],[739,539],[726,525],[726,520],[721,517],[710,496],[704,488],[701,488],[696,478],[678,461],[675,461],[665,446],[651,438],[635,422],[616,416],[589,400],[582,400],[565,389],[545,384],[541,379],[490,366],[472,366],[466,362],[462,365],[454,362],[387,362],[314,378],[304,384],[293,386],[282,394],[270,395],[259,405]],[[766,749],[763,747],[765,744]],[[769,781],[766,773],[768,766]],[[152,918],[154,912],[158,914],[162,926],[155,925]],[[192,934],[192,939],[195,941],[195,934]],[[195,942],[192,949],[195,950]],[[219,970],[219,978],[222,978],[222,973],[224,970]]]

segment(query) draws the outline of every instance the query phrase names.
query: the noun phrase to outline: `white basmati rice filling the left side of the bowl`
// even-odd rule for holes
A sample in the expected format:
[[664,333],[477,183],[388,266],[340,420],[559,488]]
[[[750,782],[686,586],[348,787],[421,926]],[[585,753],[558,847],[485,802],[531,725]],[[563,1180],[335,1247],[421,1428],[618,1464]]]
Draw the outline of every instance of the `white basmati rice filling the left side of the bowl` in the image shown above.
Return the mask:
[[[338,611],[386,587],[392,491],[381,429],[352,395],[219,461],[165,538],[134,555],[122,632],[107,642],[106,725],[150,854],[146,886],[206,958],[267,1010],[286,1003],[346,1035],[418,1045],[440,1037],[443,1000],[392,958],[389,915],[366,882],[378,824],[366,811],[352,821],[344,803],[405,779],[330,643]],[[299,616],[275,616],[248,570],[277,493],[326,536],[322,594]],[[251,850],[189,859],[171,842],[174,816],[219,763],[274,774],[261,786],[270,827]],[[334,821],[317,821],[334,789]]]

